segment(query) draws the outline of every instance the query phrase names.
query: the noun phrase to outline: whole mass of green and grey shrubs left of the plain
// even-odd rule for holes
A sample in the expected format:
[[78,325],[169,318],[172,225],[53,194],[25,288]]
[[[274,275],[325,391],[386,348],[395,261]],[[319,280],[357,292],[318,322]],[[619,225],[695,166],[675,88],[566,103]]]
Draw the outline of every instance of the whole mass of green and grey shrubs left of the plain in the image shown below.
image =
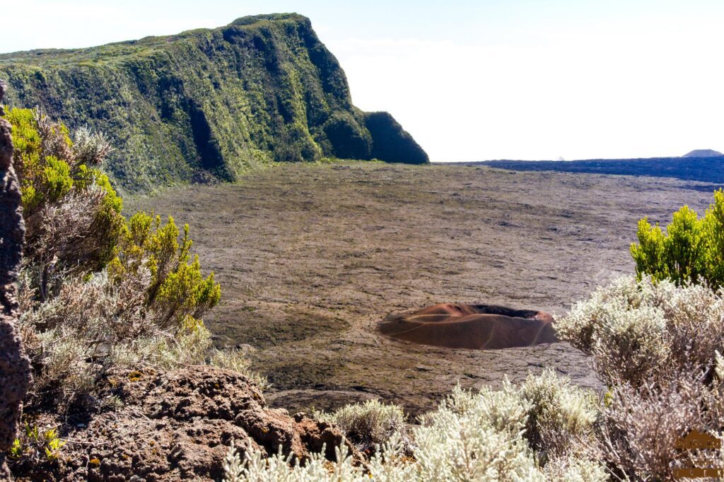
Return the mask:
[[[98,408],[96,386],[114,368],[217,363],[252,376],[245,352],[212,350],[203,315],[220,288],[192,258],[188,225],[122,216],[101,171],[104,135],[71,135],[37,110],[9,109],[7,119],[27,229],[20,331],[35,381],[26,413]],[[37,452],[23,448],[39,447],[33,430],[19,456]]]

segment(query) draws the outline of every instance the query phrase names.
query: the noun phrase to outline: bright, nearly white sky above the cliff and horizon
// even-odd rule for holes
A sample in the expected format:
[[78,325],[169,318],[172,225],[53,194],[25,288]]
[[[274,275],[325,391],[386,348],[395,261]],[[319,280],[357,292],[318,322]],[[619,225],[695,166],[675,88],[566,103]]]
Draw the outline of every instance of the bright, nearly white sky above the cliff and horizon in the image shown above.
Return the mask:
[[724,1],[22,0],[0,52],[76,48],[297,12],[356,106],[432,161],[724,152]]

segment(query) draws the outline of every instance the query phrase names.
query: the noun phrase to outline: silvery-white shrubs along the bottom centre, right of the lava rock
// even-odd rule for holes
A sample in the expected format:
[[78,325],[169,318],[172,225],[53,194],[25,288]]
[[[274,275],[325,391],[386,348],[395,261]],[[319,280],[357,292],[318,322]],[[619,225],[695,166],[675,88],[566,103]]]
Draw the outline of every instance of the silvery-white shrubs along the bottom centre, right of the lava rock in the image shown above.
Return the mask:
[[[501,390],[473,393],[458,386],[422,418],[411,432],[412,441],[399,431],[391,433],[366,466],[355,465],[338,449],[333,468],[316,457],[290,470],[290,460],[277,455],[267,461],[257,451],[248,452],[244,463],[232,447],[226,480],[603,481],[605,468],[586,458],[585,447],[568,442],[592,432],[592,400],[550,372],[529,377],[520,388],[506,382]],[[367,403],[342,409],[337,417],[364,416],[368,426],[376,425],[370,430],[382,434],[393,411]]]

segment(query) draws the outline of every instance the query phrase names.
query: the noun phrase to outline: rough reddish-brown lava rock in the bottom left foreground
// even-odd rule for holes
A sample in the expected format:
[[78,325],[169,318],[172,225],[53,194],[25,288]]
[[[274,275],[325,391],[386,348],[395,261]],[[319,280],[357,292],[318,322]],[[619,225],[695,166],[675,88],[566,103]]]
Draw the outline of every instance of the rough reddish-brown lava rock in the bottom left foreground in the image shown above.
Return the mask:
[[206,365],[111,373],[99,405],[107,408],[62,422],[60,435],[68,442],[58,460],[42,468],[14,467],[14,474],[68,481],[219,480],[232,441],[242,455],[250,448],[274,454],[281,446],[300,460],[323,444],[334,460],[334,447],[342,443],[337,428],[271,409],[245,376]]

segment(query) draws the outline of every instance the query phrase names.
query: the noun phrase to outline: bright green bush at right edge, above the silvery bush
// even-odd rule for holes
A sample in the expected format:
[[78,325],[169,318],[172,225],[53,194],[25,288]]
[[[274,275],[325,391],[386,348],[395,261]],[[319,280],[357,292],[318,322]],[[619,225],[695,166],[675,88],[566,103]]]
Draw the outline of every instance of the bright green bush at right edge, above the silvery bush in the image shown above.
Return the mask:
[[689,206],[673,214],[664,232],[648,219],[639,221],[639,243],[631,244],[636,274],[654,281],[670,279],[676,284],[706,282],[724,285],[724,191],[714,193],[714,203],[699,218]]

